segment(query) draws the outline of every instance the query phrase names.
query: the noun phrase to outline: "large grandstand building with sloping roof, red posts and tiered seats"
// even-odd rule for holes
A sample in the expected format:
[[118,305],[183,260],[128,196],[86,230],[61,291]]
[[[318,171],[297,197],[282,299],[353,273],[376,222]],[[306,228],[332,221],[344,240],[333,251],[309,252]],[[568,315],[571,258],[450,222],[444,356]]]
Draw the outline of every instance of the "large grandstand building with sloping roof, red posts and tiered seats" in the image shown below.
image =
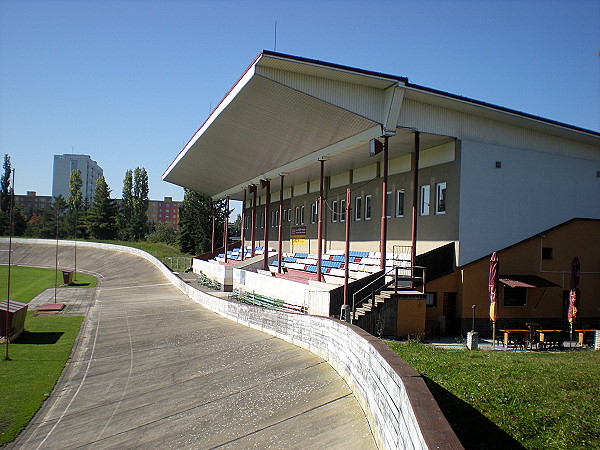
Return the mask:
[[[267,276],[260,271],[274,265],[279,272],[281,260],[288,269],[314,275],[310,289],[294,294],[304,296],[307,307],[316,291],[337,292],[340,279],[360,280],[395,265],[411,268],[414,276],[416,266],[426,267],[427,307],[403,312],[399,306],[398,327],[408,315],[408,321],[439,323],[442,331],[447,323],[464,331],[473,304],[484,324],[487,285],[467,289],[464,270],[575,218],[592,219],[585,227],[600,231],[600,133],[405,77],[270,51],[252,62],[163,179],[244,202],[243,245],[250,250],[236,256],[254,261],[252,249],[262,247],[265,259],[258,272],[257,263],[236,263],[229,281],[223,275],[226,286],[243,290],[255,273]],[[354,260],[350,274],[342,275],[346,260],[337,263],[346,255],[347,225]],[[572,239],[585,240],[578,228],[561,228],[561,236],[568,239],[564,230],[571,230]],[[563,278],[574,256],[561,251],[560,261],[553,261]],[[582,317],[598,320],[600,301],[592,291],[600,289],[600,262],[579,258],[587,280]],[[514,270],[530,271],[522,275],[543,277],[512,260]],[[215,277],[224,273],[211,270]],[[257,282],[267,284],[264,278]],[[542,289],[538,284],[531,289]],[[561,305],[564,284],[551,295]],[[273,287],[270,294],[287,295],[281,291]],[[467,292],[481,292],[481,298]],[[308,312],[338,315],[334,297],[328,307],[313,305]],[[507,311],[516,321],[556,320],[562,306],[547,303],[533,308],[525,302]]]

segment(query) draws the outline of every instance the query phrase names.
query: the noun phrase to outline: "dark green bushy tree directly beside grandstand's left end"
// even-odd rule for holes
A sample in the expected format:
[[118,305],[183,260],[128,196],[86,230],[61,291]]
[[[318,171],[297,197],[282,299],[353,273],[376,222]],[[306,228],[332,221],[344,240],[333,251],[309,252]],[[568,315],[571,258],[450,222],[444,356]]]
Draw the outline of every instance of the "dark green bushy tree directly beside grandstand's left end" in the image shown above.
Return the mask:
[[179,246],[184,253],[198,255],[211,249],[212,218],[216,217],[215,243],[223,242],[224,202],[213,202],[205,194],[185,190],[179,207]]

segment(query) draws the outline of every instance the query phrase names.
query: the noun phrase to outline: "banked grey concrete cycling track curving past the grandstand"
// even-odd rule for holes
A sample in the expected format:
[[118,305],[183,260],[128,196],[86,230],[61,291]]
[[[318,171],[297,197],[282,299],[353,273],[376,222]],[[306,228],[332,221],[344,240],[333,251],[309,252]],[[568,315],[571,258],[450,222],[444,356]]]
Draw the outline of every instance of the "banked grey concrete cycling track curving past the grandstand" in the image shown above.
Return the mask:
[[[15,264],[54,267],[54,246],[13,248]],[[143,258],[78,247],[77,267],[101,275],[96,296],[11,447],[375,447],[348,386],[312,353],[206,310]]]

